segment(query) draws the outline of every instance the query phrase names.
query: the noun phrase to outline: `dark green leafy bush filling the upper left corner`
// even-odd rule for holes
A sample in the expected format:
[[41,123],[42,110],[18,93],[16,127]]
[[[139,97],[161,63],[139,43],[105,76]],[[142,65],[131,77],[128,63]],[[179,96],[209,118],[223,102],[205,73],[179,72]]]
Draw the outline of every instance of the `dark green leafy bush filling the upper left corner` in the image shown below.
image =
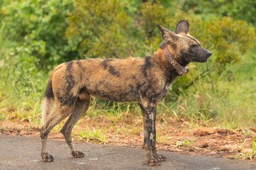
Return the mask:
[[36,57],[34,64],[38,69],[73,60],[77,56],[76,45],[65,38],[66,17],[73,9],[73,0],[4,0],[1,39],[15,42],[11,47],[28,50],[29,56]]

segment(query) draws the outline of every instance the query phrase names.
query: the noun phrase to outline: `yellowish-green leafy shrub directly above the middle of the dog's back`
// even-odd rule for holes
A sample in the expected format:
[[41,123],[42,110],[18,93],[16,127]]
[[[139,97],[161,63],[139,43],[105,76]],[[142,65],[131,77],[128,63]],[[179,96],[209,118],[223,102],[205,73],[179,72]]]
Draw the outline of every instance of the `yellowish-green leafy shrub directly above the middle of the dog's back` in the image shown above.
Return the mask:
[[82,52],[89,57],[127,56],[133,47],[129,37],[132,24],[124,6],[124,2],[116,0],[78,0],[68,18],[66,35],[80,42]]

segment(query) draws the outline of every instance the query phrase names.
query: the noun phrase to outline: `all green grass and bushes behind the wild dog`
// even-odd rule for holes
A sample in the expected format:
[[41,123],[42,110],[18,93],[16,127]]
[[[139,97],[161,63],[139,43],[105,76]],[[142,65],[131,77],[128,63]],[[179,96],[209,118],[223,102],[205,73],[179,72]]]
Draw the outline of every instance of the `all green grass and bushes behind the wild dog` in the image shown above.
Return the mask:
[[[252,127],[256,123],[256,2],[252,0],[2,0],[0,118],[41,124],[41,101],[51,70],[96,57],[144,57],[162,42],[156,24],[175,30],[182,19],[213,52],[205,64],[172,84],[159,120],[190,127]],[[137,103],[92,98],[86,115],[112,123],[141,118]]]

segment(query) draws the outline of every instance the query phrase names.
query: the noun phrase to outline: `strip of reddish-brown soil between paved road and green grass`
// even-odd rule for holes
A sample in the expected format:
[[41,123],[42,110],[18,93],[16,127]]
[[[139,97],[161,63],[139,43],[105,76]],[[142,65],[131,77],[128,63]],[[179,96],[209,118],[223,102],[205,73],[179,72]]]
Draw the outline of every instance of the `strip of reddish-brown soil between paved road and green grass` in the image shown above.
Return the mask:
[[[122,124],[90,123],[90,120],[86,120],[85,122],[89,122],[88,126],[91,124],[94,128],[106,127],[105,132],[107,132],[106,135],[108,138],[107,145],[122,145],[139,148],[143,145],[144,132],[141,125],[139,125],[137,131],[134,131],[129,130],[127,126],[124,128]],[[76,125],[73,129],[74,134],[77,134],[77,130],[84,130],[86,124],[87,123],[80,123]],[[97,127],[95,127],[95,125],[97,125]],[[111,128],[107,128],[110,127],[110,125]],[[188,128],[184,128],[184,123],[172,123],[168,126],[168,130],[163,130],[162,127],[164,126],[161,125],[156,127],[157,132],[160,130],[159,140],[156,144],[158,149],[180,154],[205,155],[228,159],[237,159],[238,157],[234,157],[235,155],[252,152],[252,139],[253,136],[256,135],[255,128],[250,128],[247,132],[240,132],[242,130],[234,131],[205,127],[188,130]],[[0,127],[0,134],[26,137],[40,136],[39,129],[29,128],[30,123],[27,121],[0,121]],[[118,132],[117,128],[120,128]],[[58,129],[53,130],[49,138],[64,140],[63,135]],[[78,137],[76,137],[75,140],[82,142],[78,140]],[[242,157],[238,159],[242,159]]]

